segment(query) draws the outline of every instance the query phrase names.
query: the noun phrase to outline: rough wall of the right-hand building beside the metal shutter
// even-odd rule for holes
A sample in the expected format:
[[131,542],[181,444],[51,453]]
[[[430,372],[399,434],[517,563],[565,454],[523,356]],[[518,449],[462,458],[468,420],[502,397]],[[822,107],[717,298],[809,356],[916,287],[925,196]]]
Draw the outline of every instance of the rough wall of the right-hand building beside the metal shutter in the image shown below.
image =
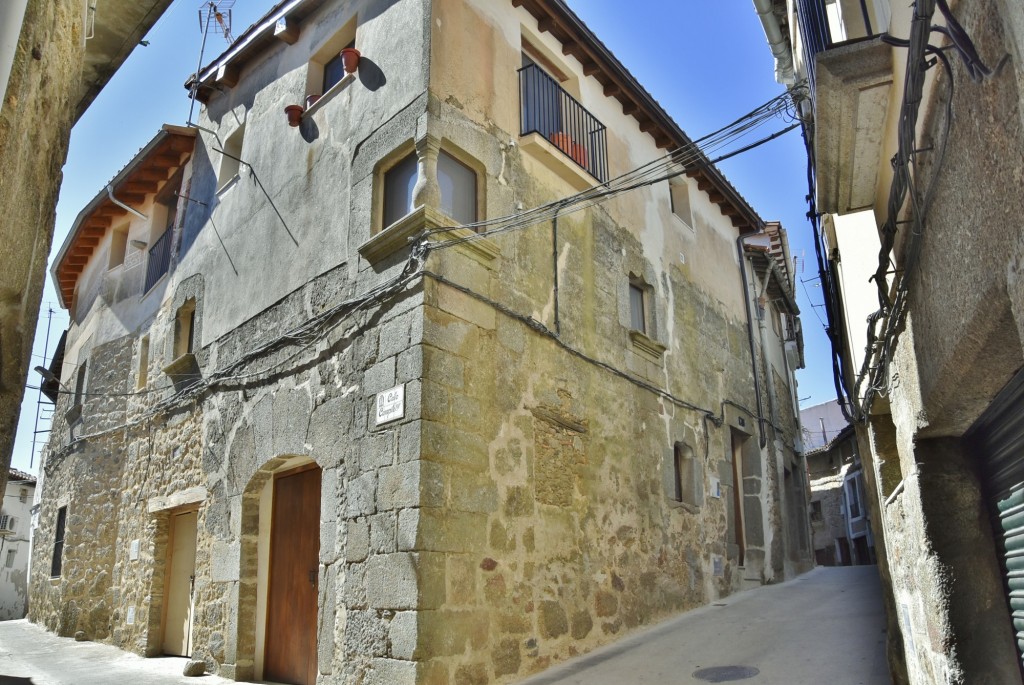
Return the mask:
[[[1019,54],[1012,27],[1020,11],[1009,4],[954,5],[990,66]],[[1020,679],[979,456],[959,438],[1024,362],[1017,276],[1024,253],[1013,219],[1024,211],[1016,180],[1021,78],[1011,59],[976,84],[953,60],[947,120],[950,77],[936,76],[919,139],[938,147],[948,126],[948,151],[941,167],[927,155],[915,169],[922,183],[936,184],[890,373],[891,415],[860,429],[861,445],[870,445],[862,454],[881,512],[876,540],[885,541],[888,601],[911,683]],[[900,660],[891,657],[902,679]]]

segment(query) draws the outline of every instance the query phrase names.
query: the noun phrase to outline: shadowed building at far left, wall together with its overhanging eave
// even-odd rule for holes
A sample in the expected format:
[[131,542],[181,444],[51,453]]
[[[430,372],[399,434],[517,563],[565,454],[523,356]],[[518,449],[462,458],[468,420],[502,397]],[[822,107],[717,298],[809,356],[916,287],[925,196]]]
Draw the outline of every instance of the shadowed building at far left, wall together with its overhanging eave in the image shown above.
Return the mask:
[[0,3],[0,487],[31,367],[71,128],[170,3]]

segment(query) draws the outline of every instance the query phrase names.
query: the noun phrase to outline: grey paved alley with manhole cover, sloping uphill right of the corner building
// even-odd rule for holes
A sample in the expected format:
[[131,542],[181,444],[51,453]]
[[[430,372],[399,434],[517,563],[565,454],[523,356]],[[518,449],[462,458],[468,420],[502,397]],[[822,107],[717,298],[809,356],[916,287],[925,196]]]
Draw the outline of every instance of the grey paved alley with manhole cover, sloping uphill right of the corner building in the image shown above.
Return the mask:
[[[522,685],[887,685],[884,630],[876,566],[819,567],[640,631]],[[720,670],[694,677],[703,669]]]

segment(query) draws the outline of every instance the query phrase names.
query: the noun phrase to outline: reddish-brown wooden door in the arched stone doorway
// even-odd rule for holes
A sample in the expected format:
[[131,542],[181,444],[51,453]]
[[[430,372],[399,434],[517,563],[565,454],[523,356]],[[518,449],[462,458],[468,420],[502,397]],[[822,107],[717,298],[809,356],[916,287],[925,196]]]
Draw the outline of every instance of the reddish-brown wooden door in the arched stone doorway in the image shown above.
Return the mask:
[[316,467],[274,479],[263,680],[316,682],[319,499]]

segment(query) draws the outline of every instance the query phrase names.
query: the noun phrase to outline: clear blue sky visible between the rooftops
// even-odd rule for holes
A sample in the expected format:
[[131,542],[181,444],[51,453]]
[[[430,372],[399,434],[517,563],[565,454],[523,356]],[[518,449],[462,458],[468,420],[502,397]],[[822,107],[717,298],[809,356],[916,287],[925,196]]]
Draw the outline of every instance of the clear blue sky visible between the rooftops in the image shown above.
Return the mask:
[[[771,52],[750,0],[567,2],[690,137],[714,131],[783,91],[775,83]],[[231,10],[233,33],[241,34],[271,4],[237,0]],[[162,124],[183,125],[187,120],[189,101],[182,84],[199,60],[199,7],[196,0],[174,0],[146,36],[150,45],[135,49],[76,125],[63,168],[51,254],[59,249],[79,210]],[[225,47],[223,38],[211,35],[204,61]],[[797,277],[807,282],[797,284],[807,362],[798,372],[801,404],[835,399],[814,246],[805,216],[807,159],[800,132],[728,160],[720,168],[763,218],[781,221],[788,230],[799,261]],[[67,312],[56,302],[47,280],[33,366],[43,361],[48,308],[54,310],[51,348],[67,328]],[[29,384],[38,385],[35,373]],[[12,466],[23,470],[30,470],[36,397],[35,390],[26,392],[14,445]],[[35,459],[31,470],[37,467]]]

